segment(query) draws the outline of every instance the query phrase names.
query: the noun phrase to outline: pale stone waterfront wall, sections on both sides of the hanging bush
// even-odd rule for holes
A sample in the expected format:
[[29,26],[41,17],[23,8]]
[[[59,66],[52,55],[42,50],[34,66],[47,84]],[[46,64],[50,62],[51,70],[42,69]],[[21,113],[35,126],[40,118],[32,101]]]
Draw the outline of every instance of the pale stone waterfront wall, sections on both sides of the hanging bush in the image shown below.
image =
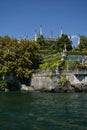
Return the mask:
[[[87,84],[86,75],[74,75],[72,73],[66,73],[66,75],[71,84]],[[58,86],[60,77],[61,74],[57,73],[56,71],[43,71],[40,73],[35,73],[32,75],[31,86],[33,86],[35,90],[52,90]]]

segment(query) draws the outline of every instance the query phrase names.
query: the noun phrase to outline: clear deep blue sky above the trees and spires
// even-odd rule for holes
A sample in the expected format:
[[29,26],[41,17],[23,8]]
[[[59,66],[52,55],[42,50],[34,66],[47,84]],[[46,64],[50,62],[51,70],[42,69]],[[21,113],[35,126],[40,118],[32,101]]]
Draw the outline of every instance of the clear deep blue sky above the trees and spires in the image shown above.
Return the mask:
[[44,37],[57,38],[62,26],[76,45],[87,36],[87,0],[0,0],[0,36],[32,39],[41,24]]

